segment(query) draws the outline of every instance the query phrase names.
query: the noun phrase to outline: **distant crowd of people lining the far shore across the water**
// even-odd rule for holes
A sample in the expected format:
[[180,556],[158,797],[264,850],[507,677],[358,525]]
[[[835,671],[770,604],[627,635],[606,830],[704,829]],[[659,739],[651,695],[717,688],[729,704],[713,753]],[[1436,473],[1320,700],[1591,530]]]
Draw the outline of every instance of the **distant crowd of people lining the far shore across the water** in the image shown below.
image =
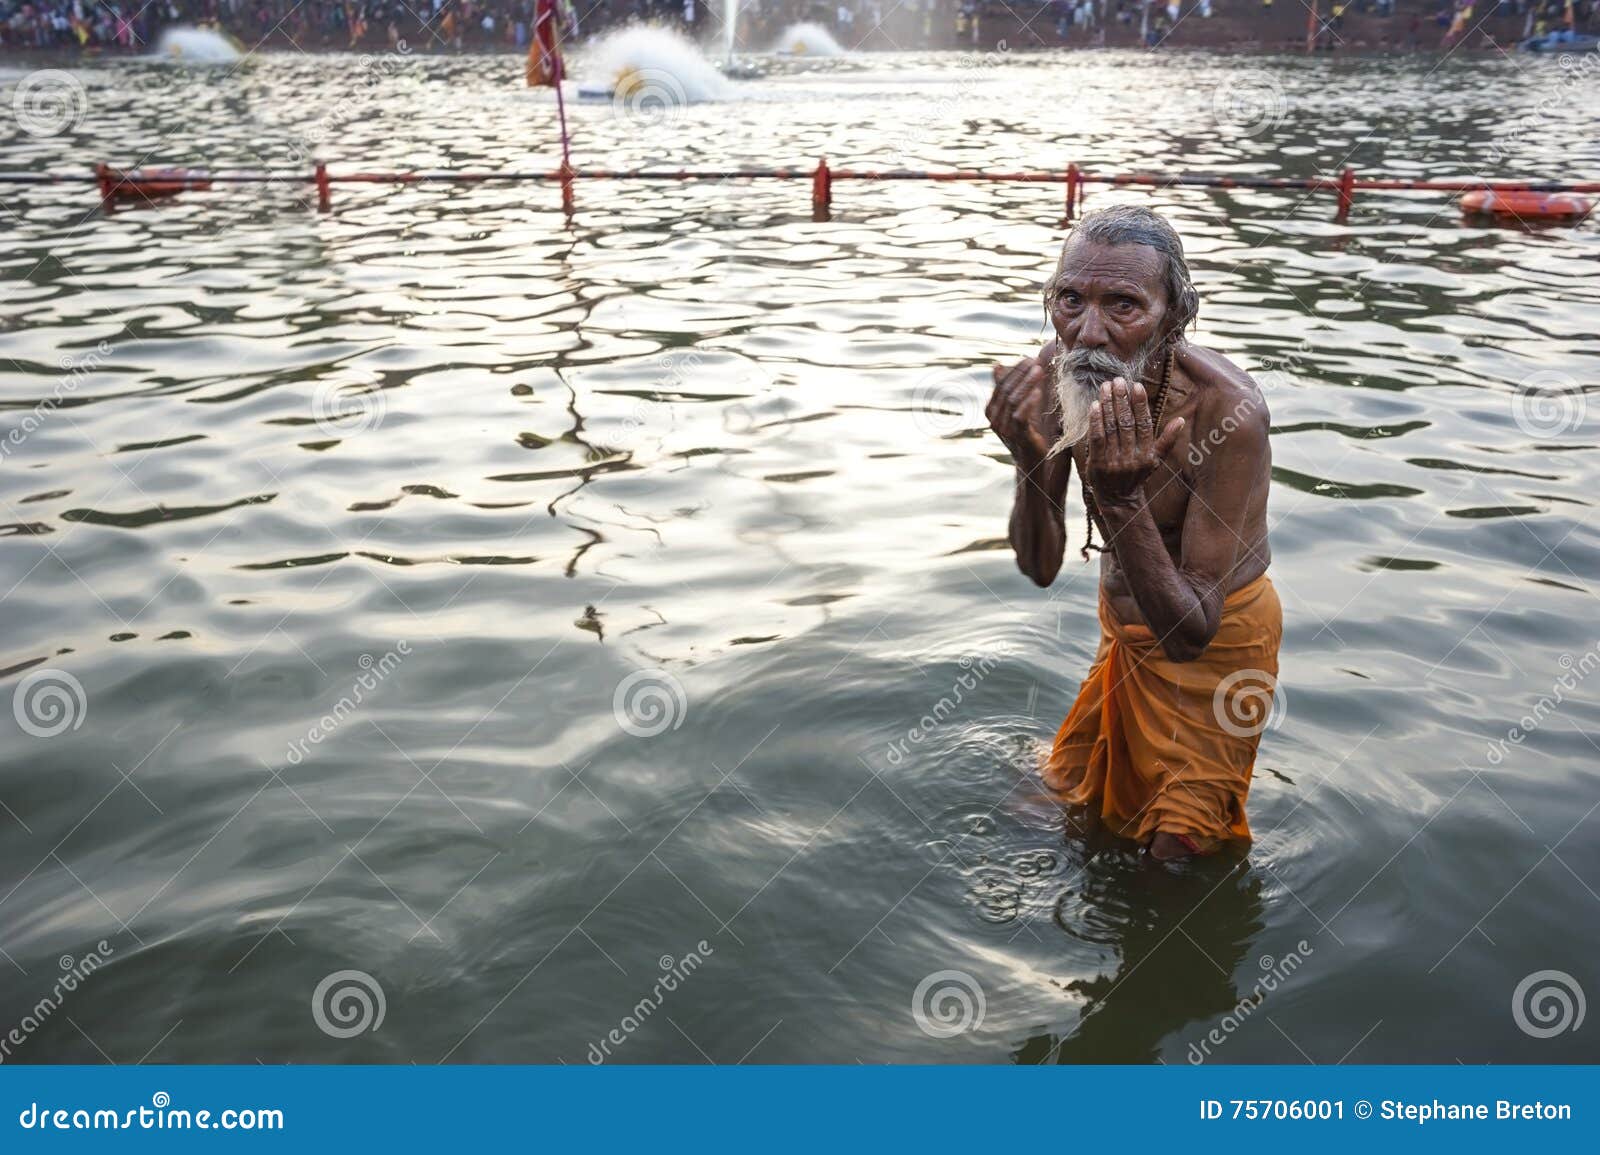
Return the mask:
[[[720,27],[722,6],[712,0],[566,0],[579,38],[629,21],[678,26],[690,35]],[[1450,27],[1474,0],[1400,0],[1400,14],[1414,40],[1424,22]],[[422,51],[526,48],[534,0],[0,0],[0,48],[56,51],[149,51],[166,27],[205,26],[234,35],[246,48],[371,50],[398,46]],[[1494,19],[1494,35],[1520,35],[1566,27],[1565,0],[1477,0],[1482,24]],[[830,29],[845,48],[954,48],[986,43],[995,21],[1026,22],[1027,42],[1104,43],[1106,29],[1138,29],[1147,42],[1163,40],[1190,16],[1210,19],[1227,10],[1272,14],[1274,0],[744,0],[741,43],[768,46],[790,24]],[[1296,0],[1283,0],[1285,8]],[[1397,0],[1331,0],[1322,8],[1323,29],[1338,34],[1346,14],[1395,16]],[[1576,0],[1573,26],[1589,30],[1600,0]],[[1510,21],[1515,21],[1512,24]],[[1405,38],[1405,30],[1395,34]],[[992,37],[990,37],[992,40]],[[1437,34],[1435,34],[1437,40]]]

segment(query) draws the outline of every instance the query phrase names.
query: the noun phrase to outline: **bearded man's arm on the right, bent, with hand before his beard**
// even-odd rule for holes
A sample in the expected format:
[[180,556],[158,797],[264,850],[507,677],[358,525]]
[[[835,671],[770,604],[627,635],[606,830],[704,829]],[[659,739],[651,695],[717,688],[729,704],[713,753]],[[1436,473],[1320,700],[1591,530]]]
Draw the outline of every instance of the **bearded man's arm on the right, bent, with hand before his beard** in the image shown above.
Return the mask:
[[[1205,653],[1222,622],[1222,600],[1245,544],[1251,490],[1267,453],[1266,410],[1256,406],[1245,414],[1197,467],[1174,565],[1150,517],[1144,478],[1171,448],[1181,426],[1174,419],[1155,438],[1144,387],[1118,386],[1109,387],[1109,398],[1102,390],[1098,421],[1090,426],[1091,461],[1107,462],[1109,469],[1107,493],[1096,493],[1096,499],[1146,624],[1170,659],[1189,662]],[[1139,469],[1138,483],[1125,485]]]

